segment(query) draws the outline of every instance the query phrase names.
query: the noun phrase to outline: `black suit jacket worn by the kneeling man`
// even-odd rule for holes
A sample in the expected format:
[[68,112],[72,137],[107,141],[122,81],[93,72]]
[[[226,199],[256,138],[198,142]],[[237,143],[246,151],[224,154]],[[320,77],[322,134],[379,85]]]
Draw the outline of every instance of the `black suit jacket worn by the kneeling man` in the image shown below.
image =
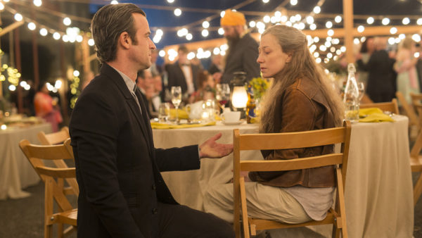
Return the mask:
[[147,113],[107,64],[79,96],[70,137],[78,237],[158,237],[158,201],[177,204],[160,171],[198,169],[198,146],[155,149]]

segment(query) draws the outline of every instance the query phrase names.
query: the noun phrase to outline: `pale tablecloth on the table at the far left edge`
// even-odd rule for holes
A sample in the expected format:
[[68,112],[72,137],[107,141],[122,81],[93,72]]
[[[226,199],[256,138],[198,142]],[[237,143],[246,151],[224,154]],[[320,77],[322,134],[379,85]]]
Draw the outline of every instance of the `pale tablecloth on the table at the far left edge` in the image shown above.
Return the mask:
[[39,182],[39,176],[19,148],[22,139],[39,144],[37,134],[51,133],[51,125],[42,123],[24,128],[0,130],[0,199],[30,196],[23,188]]

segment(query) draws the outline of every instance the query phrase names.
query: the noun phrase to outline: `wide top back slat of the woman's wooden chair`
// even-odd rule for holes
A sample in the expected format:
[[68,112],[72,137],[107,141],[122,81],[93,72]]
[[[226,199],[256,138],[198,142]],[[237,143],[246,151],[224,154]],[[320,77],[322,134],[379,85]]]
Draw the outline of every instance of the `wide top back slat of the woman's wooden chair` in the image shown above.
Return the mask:
[[240,150],[299,149],[344,141],[343,128],[312,130],[307,132],[242,134]]

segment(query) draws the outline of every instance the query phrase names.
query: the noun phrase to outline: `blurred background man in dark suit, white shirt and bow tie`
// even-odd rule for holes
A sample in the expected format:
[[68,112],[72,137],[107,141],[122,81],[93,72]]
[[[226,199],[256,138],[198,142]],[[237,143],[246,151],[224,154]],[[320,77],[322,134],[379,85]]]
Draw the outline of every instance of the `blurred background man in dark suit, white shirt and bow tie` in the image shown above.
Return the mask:
[[196,78],[198,77],[200,67],[189,62],[188,48],[184,45],[179,46],[177,56],[179,59],[167,67],[167,87],[172,89],[173,86],[180,86],[181,93],[184,95],[186,101],[186,99],[198,89]]

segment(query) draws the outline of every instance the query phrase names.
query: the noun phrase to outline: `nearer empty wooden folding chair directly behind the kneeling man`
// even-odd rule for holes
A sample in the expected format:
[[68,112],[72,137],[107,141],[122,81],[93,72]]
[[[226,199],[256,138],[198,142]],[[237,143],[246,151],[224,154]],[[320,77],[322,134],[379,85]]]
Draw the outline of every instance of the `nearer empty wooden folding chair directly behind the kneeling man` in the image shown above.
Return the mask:
[[[65,144],[70,146],[70,139]],[[39,146],[30,144],[26,139],[19,143],[23,154],[25,154],[45,184],[44,237],[46,238],[52,237],[53,224],[58,224],[58,237],[70,234],[77,226],[77,209],[72,207],[65,196],[67,190],[63,188],[63,179],[75,179],[75,168],[46,167],[42,161],[73,159],[73,154],[70,154],[65,144]],[[58,205],[57,213],[53,213],[53,201],[56,201]],[[70,227],[63,231],[63,224],[68,224]]]

